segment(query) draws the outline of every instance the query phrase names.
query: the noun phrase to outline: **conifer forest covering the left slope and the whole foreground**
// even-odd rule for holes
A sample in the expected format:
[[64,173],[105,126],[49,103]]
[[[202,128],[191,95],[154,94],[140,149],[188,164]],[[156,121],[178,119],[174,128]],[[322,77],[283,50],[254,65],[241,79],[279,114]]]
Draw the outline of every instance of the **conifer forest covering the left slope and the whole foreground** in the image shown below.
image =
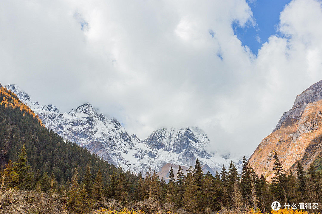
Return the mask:
[[214,176],[197,159],[187,174],[171,168],[166,183],[156,171],[136,175],[64,141],[3,87],[0,101],[1,213],[270,213],[273,201],[320,209],[322,173],[313,165],[304,171],[298,162],[293,174],[275,153],[267,182],[245,157],[241,173],[231,162]]

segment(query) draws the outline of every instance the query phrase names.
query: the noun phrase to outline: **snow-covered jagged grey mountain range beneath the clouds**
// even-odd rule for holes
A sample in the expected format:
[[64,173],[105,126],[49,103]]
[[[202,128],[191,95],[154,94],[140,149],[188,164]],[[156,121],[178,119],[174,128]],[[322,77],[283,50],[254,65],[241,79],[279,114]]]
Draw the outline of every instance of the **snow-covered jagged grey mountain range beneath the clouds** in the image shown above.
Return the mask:
[[[150,167],[158,172],[168,163],[189,167],[194,165],[196,158],[207,165],[211,172],[216,172],[223,165],[228,167],[231,162],[230,159],[206,151],[210,140],[198,127],[160,128],[146,140],[140,140],[135,134],[130,136],[117,119],[97,113],[90,103],[63,113],[53,105],[40,106],[38,102],[33,103],[29,95],[17,85],[5,87],[31,108],[46,128],[65,140],[87,148],[109,163],[134,173],[144,174]],[[233,162],[241,167],[239,159]]]

